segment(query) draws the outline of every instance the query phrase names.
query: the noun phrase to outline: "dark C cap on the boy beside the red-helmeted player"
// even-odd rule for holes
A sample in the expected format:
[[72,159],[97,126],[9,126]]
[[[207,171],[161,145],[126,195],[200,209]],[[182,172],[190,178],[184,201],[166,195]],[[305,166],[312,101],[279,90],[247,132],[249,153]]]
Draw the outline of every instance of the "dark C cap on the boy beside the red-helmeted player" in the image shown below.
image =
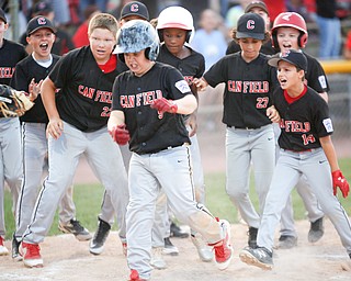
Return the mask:
[[257,13],[245,13],[238,20],[237,38],[264,40],[265,24],[261,15]]

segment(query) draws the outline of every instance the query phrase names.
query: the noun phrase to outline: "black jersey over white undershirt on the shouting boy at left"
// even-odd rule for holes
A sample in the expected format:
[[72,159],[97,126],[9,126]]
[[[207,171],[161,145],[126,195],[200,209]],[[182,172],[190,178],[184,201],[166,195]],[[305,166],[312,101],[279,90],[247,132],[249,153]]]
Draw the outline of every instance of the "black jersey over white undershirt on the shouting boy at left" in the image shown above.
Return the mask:
[[[53,64],[47,68],[37,64],[32,55],[21,60],[15,66],[15,71],[11,79],[11,86],[19,91],[27,92],[31,80],[34,78],[36,83],[38,83],[42,79],[44,80],[60,58],[59,56],[56,56],[54,54],[52,55],[52,57]],[[25,114],[21,116],[20,120],[23,122],[33,123],[48,122],[41,94],[38,94],[34,100],[34,106],[25,112]]]

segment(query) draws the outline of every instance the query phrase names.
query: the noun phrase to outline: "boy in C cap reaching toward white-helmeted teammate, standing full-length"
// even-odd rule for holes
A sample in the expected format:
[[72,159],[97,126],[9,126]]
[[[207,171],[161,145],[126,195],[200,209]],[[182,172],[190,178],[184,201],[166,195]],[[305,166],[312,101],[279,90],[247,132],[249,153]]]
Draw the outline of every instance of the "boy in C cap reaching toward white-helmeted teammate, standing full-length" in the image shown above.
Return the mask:
[[[257,13],[246,13],[238,20],[234,37],[241,52],[218,60],[203,78],[194,79],[201,89],[225,82],[223,123],[226,133],[226,191],[249,226],[249,246],[254,247],[260,214],[269,190],[275,165],[274,133],[267,116],[270,94],[276,86],[274,68],[260,48],[269,33]],[[258,213],[249,198],[251,161],[256,191],[259,198]]]

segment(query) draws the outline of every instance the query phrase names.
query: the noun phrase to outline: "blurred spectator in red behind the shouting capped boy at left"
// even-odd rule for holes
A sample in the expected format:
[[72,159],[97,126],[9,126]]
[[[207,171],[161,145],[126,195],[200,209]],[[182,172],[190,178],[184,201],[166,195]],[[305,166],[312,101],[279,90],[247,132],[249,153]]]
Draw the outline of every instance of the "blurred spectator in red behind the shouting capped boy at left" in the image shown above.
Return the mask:
[[[48,0],[38,1],[33,7],[32,18],[34,18],[36,15],[44,15],[49,21],[54,22],[55,12],[54,12],[53,5],[50,4],[50,2]],[[55,27],[56,27],[56,34],[55,34],[56,40],[55,40],[52,53],[55,55],[61,56],[61,55],[66,54],[68,50],[73,49],[75,44],[72,43],[71,36],[67,32],[65,32],[64,30],[61,30],[58,26],[55,26]],[[25,33],[22,34],[22,36],[20,37],[20,43],[25,46],[25,49],[29,54],[32,53],[32,48],[26,42],[26,34]]]

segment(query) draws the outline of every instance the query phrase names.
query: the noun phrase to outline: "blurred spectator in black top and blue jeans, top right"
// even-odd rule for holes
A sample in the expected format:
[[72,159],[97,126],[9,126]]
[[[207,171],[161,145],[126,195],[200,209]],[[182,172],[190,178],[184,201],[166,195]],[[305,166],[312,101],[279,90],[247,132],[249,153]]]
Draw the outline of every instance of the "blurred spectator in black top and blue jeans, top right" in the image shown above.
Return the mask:
[[341,48],[341,23],[336,0],[316,0],[316,22],[319,29],[319,58],[337,58]]

